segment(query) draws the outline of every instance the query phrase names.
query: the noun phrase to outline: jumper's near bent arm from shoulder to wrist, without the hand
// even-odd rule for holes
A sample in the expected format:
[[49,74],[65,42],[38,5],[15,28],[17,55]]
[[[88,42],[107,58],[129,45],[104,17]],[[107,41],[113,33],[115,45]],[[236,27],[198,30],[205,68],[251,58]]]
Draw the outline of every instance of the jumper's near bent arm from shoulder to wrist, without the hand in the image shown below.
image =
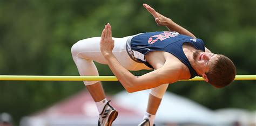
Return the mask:
[[129,93],[151,89],[164,83],[174,83],[178,80],[179,74],[177,71],[170,72],[164,67],[137,77],[120,65],[113,54],[105,55],[105,59],[113,74]]

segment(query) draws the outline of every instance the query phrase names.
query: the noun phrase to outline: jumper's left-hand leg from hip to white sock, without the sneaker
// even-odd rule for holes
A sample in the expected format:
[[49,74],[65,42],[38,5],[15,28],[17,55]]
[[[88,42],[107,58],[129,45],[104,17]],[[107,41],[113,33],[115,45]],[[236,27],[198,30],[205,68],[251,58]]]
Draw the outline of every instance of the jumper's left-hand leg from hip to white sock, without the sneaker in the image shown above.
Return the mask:
[[[139,64],[129,57],[125,48],[126,40],[128,38],[129,37],[113,38],[115,42],[112,52],[117,60],[122,66],[131,71],[149,69],[149,67],[146,67],[144,64]],[[72,57],[76,63],[80,75],[98,76],[98,70],[93,61],[99,62],[100,64],[107,63],[102,53],[100,52],[99,41],[100,37],[88,38],[80,40],[72,46]],[[99,81],[84,81],[84,84],[89,90],[95,102],[99,102],[105,99],[104,90]],[[99,107],[99,111],[102,109],[102,107]]]

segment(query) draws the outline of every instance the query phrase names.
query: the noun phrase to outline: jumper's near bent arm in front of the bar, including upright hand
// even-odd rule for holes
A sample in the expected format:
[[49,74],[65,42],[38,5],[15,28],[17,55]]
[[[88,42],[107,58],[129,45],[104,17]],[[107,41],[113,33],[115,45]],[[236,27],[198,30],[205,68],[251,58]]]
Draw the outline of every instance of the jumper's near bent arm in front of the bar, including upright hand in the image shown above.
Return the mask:
[[[117,79],[122,83],[127,92],[137,92],[139,90],[150,89],[157,87],[163,83],[173,83],[178,79],[179,74],[175,71],[175,67],[163,66],[156,71],[144,74],[142,76],[134,76],[127,69],[125,69],[116,57],[114,57],[112,50],[114,47],[114,41],[111,35],[111,26],[107,24],[102,32],[102,38],[100,40],[100,51],[107,60],[111,71],[116,75]],[[170,78],[172,76],[172,78]]]

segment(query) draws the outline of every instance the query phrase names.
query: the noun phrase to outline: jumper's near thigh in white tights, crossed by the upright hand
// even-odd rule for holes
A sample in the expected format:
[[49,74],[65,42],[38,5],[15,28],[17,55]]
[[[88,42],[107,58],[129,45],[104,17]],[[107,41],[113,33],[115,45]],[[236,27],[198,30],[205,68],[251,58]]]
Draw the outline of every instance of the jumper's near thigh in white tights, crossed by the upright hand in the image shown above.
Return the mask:
[[[114,38],[114,48],[112,53],[120,62],[120,64],[130,71],[139,71],[141,69],[149,69],[144,64],[133,61],[126,51],[126,41],[129,37]],[[104,56],[100,52],[100,37],[87,38],[78,41],[76,46],[77,57],[86,60],[93,60],[100,64],[107,64]]]

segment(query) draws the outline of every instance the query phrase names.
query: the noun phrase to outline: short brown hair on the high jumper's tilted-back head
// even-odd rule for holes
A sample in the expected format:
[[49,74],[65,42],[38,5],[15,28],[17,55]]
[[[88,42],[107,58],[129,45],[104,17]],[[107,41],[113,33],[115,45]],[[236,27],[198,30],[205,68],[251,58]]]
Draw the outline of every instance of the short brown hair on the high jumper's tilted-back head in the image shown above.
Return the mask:
[[236,74],[233,62],[225,55],[219,54],[218,59],[210,66],[206,76],[212,86],[222,88],[229,85]]

